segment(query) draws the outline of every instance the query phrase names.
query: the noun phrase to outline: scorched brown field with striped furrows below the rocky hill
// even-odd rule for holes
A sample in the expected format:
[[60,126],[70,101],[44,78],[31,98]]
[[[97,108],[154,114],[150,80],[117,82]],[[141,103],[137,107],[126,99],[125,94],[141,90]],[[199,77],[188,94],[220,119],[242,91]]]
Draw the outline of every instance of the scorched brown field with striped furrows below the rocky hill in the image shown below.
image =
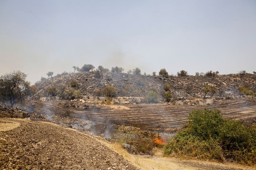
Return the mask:
[[[36,103],[35,103],[36,104]],[[223,118],[239,119],[248,125],[256,124],[256,100],[236,99],[219,101],[211,105],[168,105],[157,104],[129,104],[129,105],[98,105],[90,109],[63,108],[59,102],[42,102],[47,114],[61,114],[71,110],[74,118],[82,118],[93,122],[115,123],[118,125],[139,126],[147,130],[168,130],[179,128],[185,124],[192,109],[210,108],[220,109]]]

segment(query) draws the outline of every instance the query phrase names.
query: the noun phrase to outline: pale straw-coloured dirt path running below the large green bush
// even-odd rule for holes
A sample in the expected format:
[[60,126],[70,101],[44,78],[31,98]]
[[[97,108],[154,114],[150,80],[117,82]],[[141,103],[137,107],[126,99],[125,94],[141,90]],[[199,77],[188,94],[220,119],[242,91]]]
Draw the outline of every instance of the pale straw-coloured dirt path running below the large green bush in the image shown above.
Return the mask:
[[167,158],[162,157],[161,153],[158,156],[132,155],[119,145],[103,143],[142,170],[256,170],[255,166],[249,167],[234,163],[223,164],[201,160]]

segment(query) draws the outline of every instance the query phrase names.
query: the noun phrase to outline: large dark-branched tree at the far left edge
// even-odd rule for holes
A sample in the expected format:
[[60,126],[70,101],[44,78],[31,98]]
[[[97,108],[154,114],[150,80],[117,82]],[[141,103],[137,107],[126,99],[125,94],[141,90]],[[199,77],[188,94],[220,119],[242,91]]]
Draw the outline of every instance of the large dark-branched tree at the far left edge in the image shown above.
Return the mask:
[[26,81],[27,75],[21,71],[14,71],[0,78],[0,101],[6,106],[10,102],[13,107],[21,101],[26,95],[32,93],[33,88],[30,82]]

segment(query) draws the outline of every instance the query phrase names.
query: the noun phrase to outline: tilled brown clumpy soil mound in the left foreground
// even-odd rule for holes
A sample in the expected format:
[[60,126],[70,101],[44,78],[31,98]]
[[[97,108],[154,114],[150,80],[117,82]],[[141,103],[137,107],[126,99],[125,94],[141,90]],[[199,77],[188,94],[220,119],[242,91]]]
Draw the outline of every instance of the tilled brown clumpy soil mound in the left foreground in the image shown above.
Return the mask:
[[137,170],[106,145],[74,129],[29,119],[0,121],[19,125],[0,131],[0,169]]

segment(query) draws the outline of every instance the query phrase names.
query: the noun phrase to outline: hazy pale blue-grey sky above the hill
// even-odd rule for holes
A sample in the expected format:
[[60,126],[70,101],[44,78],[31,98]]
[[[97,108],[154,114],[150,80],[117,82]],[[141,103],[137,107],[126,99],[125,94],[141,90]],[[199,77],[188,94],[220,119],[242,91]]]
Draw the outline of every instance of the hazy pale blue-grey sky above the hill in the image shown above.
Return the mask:
[[0,0],[0,75],[256,71],[255,0]]

